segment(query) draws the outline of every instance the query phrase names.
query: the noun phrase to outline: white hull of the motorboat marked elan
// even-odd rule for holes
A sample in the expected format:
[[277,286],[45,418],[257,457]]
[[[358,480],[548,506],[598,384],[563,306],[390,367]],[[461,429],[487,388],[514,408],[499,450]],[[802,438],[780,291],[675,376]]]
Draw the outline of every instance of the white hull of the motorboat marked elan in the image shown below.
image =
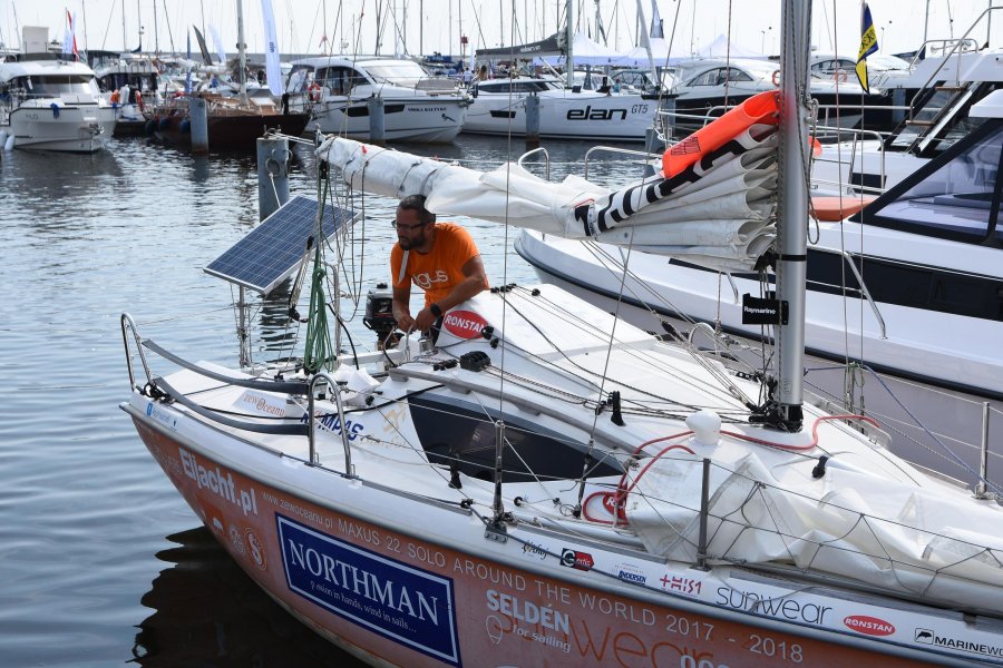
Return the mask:
[[[539,95],[543,139],[644,141],[653,127],[656,99],[640,95],[604,95],[583,90],[546,90]],[[467,111],[464,131],[476,135],[526,136],[526,97],[480,92]]]

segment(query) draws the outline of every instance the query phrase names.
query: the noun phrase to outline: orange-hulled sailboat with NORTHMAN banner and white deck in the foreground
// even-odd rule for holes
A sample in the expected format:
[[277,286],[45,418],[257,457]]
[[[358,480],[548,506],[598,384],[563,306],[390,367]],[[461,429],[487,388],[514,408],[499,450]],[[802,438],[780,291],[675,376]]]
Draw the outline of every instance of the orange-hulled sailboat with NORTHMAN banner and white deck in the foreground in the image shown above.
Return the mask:
[[[804,48],[782,65],[805,71],[810,11],[789,0],[783,18],[783,43]],[[741,262],[776,248],[776,377],[553,286],[481,293],[445,313],[435,343],[406,333],[338,356],[324,249],[337,253],[356,213],[295,198],[207,271],[243,303],[313,255],[303,358],[191,363],[123,315],[121,407],[236,562],[374,665],[999,665],[1003,509],[919,472],[873,420],[801,387],[807,184],[793,147],[807,106],[789,79],[744,107],[747,122],[710,126],[723,144],[612,191],[338,137],[318,149],[369,193],[649,245],[675,243],[664,207],[684,206],[694,184],[743,184],[763,224],[742,230],[738,253],[693,249]],[[181,370],[155,373],[165,360]]]

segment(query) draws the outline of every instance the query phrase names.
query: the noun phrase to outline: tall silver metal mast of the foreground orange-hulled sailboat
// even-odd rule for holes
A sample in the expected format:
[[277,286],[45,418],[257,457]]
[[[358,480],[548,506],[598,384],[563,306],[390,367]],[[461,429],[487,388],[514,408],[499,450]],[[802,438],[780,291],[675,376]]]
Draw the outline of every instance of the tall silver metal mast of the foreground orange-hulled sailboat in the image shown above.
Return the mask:
[[811,35],[810,0],[785,0],[780,47],[780,200],[777,222],[777,297],[790,317],[778,327],[781,429],[801,426],[805,363],[805,277],[808,243],[807,72]]

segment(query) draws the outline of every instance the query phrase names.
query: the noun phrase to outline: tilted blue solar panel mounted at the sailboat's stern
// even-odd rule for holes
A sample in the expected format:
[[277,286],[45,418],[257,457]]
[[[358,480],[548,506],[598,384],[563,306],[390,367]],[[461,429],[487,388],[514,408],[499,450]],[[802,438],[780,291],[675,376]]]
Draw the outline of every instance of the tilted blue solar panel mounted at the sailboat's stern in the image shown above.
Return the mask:
[[[352,212],[325,204],[324,238],[353,218]],[[300,266],[306,239],[314,234],[315,220],[317,200],[296,196],[210,263],[205,271],[266,295]]]

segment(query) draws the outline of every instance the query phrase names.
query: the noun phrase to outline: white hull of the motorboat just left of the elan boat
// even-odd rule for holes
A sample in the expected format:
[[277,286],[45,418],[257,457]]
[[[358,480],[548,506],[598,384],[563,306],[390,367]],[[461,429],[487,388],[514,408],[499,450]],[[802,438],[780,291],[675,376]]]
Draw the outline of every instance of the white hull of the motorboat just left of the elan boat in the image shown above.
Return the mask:
[[[459,135],[467,114],[466,101],[457,98],[386,98],[383,101],[383,132],[388,141],[452,141]],[[329,98],[313,106],[310,131],[370,140],[370,117],[367,100]]]

